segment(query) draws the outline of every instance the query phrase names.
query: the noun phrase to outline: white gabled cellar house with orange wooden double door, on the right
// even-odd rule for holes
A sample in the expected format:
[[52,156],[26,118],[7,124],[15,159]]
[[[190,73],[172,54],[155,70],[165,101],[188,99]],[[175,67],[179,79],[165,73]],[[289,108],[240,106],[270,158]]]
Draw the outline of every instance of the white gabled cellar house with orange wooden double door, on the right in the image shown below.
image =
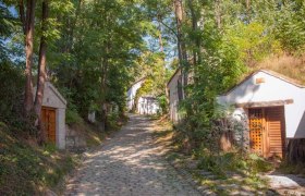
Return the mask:
[[289,139],[305,138],[305,87],[283,75],[254,72],[218,102],[247,118],[251,149],[264,157],[283,157]]

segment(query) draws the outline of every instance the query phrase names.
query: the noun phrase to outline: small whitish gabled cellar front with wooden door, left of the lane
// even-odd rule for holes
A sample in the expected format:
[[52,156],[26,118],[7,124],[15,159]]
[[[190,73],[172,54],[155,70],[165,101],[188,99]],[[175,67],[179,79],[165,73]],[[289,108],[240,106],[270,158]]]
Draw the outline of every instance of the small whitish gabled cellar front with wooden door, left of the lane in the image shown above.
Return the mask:
[[[36,87],[34,88],[34,95]],[[66,100],[57,88],[46,82],[41,108],[41,120],[49,142],[53,142],[58,148],[65,148],[65,108]]]

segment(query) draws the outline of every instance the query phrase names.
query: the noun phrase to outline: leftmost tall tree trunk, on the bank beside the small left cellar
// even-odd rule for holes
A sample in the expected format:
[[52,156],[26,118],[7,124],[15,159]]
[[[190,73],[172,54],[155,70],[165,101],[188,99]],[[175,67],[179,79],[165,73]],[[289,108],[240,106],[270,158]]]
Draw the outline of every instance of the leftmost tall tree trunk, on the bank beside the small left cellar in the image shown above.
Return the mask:
[[35,0],[27,0],[26,9],[26,25],[25,25],[25,53],[26,53],[26,66],[25,66],[25,96],[24,96],[24,114],[29,115],[33,109],[33,82],[32,82],[32,65],[33,65],[33,49],[34,49],[34,22],[35,22]]

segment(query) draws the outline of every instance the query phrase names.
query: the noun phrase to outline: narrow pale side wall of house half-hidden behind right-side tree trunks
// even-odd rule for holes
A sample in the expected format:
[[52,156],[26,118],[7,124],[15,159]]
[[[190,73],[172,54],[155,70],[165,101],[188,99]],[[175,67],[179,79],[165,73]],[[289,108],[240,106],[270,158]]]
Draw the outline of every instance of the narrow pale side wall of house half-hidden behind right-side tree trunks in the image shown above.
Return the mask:
[[168,89],[170,90],[170,119],[173,122],[179,121],[178,105],[179,105],[179,95],[178,95],[178,79],[181,72],[178,71],[175,75],[171,78],[168,84]]

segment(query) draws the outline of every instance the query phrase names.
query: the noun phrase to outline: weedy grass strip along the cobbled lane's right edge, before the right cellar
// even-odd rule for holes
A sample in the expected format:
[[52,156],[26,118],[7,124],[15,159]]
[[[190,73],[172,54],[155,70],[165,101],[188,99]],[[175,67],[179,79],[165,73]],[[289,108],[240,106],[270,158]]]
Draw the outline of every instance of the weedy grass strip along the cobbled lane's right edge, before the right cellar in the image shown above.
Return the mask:
[[167,143],[170,150],[167,160],[178,170],[191,173],[193,181],[203,193],[216,195],[264,195],[269,192],[268,181],[260,173],[273,169],[272,164],[254,155],[237,151],[211,154],[207,149],[196,149],[183,154],[173,139],[172,125],[157,121],[156,140]]

